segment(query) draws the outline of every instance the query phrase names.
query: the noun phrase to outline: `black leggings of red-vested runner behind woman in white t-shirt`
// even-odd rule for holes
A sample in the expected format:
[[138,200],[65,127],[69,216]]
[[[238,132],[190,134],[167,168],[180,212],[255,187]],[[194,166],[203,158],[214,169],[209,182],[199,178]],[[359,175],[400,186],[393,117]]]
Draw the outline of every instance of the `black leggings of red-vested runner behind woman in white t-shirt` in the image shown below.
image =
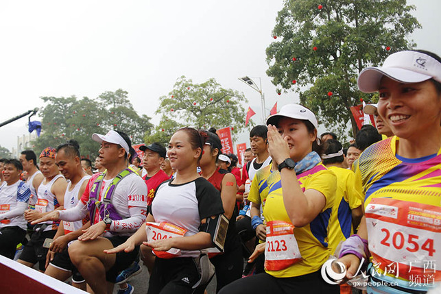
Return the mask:
[[210,261],[216,269],[216,293],[224,286],[242,277],[243,258],[240,243],[235,249],[215,256]]

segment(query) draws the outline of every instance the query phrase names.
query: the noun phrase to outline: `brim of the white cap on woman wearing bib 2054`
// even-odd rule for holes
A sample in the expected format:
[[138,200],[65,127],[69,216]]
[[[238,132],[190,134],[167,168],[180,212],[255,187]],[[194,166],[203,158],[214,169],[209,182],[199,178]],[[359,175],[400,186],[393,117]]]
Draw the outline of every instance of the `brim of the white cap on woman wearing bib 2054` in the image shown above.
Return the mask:
[[419,83],[431,79],[430,75],[424,75],[422,73],[416,73],[409,71],[408,69],[399,69],[397,67],[368,67],[363,69],[358,76],[357,84],[359,90],[363,93],[374,93],[380,88],[381,78],[383,76],[390,77],[396,82],[401,83]]

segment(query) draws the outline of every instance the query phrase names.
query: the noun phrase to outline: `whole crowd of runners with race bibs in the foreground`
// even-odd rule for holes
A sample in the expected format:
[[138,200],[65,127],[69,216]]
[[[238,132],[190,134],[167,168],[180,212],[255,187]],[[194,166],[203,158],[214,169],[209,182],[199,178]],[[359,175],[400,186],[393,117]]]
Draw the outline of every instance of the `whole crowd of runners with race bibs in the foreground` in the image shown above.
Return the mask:
[[[393,53],[355,140],[288,104],[243,162],[215,130],[167,147],[110,130],[92,162],[69,140],[0,160],[0,255],[90,293],[426,293],[441,282],[441,60]],[[320,118],[319,118],[320,119]],[[241,164],[242,163],[242,164]],[[141,264],[142,260],[142,264]],[[147,272],[143,271],[143,266]]]

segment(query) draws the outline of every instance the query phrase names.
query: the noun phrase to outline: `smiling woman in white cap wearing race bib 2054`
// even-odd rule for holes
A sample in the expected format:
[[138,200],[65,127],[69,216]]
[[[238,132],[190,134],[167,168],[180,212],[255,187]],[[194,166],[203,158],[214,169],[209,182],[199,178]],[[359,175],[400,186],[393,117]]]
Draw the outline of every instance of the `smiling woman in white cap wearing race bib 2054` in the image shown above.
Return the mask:
[[378,112],[395,136],[359,157],[365,217],[340,261],[350,278],[372,256],[368,293],[425,293],[441,281],[441,60],[394,53],[361,71],[358,86],[379,91]]

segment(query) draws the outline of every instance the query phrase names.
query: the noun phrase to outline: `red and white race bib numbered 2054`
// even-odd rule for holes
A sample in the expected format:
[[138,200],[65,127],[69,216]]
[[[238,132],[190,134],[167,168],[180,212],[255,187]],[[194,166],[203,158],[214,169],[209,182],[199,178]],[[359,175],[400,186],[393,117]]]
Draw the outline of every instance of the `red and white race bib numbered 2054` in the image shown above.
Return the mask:
[[[441,262],[441,208],[390,198],[374,198],[365,210],[369,251],[381,271],[411,280],[429,260]],[[441,280],[436,271],[435,280]]]

